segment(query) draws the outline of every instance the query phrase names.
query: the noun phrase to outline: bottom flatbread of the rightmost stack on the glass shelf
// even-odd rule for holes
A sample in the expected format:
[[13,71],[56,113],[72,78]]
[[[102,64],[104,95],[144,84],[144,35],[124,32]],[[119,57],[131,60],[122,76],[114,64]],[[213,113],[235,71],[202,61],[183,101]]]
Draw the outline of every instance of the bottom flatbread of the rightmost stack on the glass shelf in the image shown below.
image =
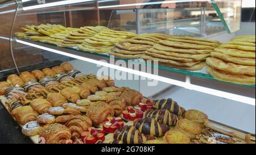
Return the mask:
[[207,67],[207,72],[218,80],[238,84],[255,84],[255,76],[231,74],[230,72],[216,70],[210,66]]

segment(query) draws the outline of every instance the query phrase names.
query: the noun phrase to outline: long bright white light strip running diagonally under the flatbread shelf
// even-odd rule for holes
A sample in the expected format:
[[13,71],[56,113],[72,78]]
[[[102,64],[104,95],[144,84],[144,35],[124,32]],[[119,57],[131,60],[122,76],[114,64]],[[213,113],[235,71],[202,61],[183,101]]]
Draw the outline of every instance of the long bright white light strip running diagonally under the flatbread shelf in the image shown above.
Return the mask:
[[67,57],[72,57],[72,58],[80,59],[82,61],[86,61],[86,62],[90,62],[90,63],[94,63],[94,64],[99,64],[101,66],[105,66],[105,67],[109,67],[109,68],[114,68],[115,70],[121,70],[121,71],[125,71],[127,73],[130,73],[130,74],[135,74],[135,75],[143,76],[145,78],[150,78],[150,79],[155,79],[155,80],[158,80],[158,81],[162,81],[164,83],[169,83],[169,84],[177,85],[177,86],[180,86],[180,87],[183,87],[183,88],[191,89],[193,91],[198,91],[198,92],[203,92],[203,93],[207,93],[207,94],[212,94],[214,96],[224,97],[224,98],[227,98],[229,100],[243,102],[245,104],[249,104],[249,105],[255,106],[255,98],[245,97],[245,96],[241,96],[241,95],[238,95],[238,94],[232,94],[232,93],[228,93],[228,92],[218,91],[216,89],[201,87],[199,85],[193,85],[193,84],[190,84],[190,83],[187,83],[187,82],[183,82],[183,81],[178,81],[178,80],[174,80],[174,79],[164,78],[162,76],[158,76],[158,75],[154,75],[154,74],[148,74],[146,72],[141,72],[141,71],[133,70],[133,69],[126,68],[126,67],[116,66],[114,64],[110,64],[110,63],[106,63],[106,62],[96,61],[94,59],[81,57],[79,55],[65,53],[64,51],[55,50],[55,49],[51,49],[51,48],[46,48],[44,46],[32,44],[30,42],[26,42],[26,41],[22,41],[22,40],[16,40],[16,42],[19,42],[20,44],[32,46],[34,48],[39,48],[39,49],[51,51],[53,53],[65,55]]

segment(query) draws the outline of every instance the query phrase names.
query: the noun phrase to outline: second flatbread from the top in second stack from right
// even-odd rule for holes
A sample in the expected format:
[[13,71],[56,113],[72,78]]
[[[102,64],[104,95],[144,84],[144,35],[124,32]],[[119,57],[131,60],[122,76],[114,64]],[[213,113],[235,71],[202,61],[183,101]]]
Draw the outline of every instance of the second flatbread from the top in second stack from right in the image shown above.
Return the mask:
[[166,46],[171,46],[171,47],[176,47],[176,48],[183,48],[183,49],[208,49],[208,50],[213,50],[214,47],[212,46],[205,46],[205,45],[195,45],[195,44],[190,44],[190,43],[185,43],[185,42],[175,42],[175,41],[167,41],[167,40],[162,40],[158,42],[159,44],[166,45]]

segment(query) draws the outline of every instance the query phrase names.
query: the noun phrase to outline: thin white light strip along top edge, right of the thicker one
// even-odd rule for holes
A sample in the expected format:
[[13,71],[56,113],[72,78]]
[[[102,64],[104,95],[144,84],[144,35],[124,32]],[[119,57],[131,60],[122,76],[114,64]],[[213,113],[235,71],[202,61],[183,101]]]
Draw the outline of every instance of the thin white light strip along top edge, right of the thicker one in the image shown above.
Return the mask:
[[168,4],[168,3],[182,3],[182,2],[206,2],[206,1],[210,2],[209,0],[180,0],[180,1],[132,3],[132,4],[127,4],[127,5],[99,6],[98,8],[126,7],[126,6],[143,6],[143,5],[159,5],[159,4]]

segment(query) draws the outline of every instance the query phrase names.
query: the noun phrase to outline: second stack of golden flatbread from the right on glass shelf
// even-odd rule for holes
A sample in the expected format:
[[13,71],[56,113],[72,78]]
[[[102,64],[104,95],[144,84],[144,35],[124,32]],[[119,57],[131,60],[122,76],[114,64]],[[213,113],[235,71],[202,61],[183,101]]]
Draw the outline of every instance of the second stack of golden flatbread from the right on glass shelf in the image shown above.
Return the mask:
[[145,51],[142,58],[159,61],[168,67],[202,70],[207,65],[205,59],[219,45],[220,42],[216,40],[171,36]]

